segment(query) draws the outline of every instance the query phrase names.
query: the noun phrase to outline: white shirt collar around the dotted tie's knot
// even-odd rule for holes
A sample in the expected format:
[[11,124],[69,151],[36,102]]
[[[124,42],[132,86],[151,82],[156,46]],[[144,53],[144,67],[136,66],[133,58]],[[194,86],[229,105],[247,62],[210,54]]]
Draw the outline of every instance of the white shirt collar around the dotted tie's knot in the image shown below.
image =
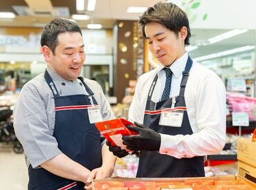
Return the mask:
[[[185,69],[185,65],[188,61],[188,53],[186,52],[184,55],[179,57],[174,63],[170,66],[170,69],[172,70],[172,73],[174,74],[174,77],[179,78],[179,76],[182,74],[182,72]],[[165,66],[161,64],[158,68],[158,72],[163,70]]]

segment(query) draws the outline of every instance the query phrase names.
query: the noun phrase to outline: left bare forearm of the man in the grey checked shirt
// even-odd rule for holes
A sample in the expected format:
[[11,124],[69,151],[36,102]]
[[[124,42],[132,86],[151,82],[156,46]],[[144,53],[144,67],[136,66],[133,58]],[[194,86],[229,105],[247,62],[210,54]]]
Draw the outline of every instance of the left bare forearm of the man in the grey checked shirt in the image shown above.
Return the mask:
[[64,153],[51,158],[41,164],[41,167],[54,173],[55,175],[59,175],[62,178],[67,178],[75,181],[86,182],[87,178],[91,171],[86,169],[81,164],[71,160]]

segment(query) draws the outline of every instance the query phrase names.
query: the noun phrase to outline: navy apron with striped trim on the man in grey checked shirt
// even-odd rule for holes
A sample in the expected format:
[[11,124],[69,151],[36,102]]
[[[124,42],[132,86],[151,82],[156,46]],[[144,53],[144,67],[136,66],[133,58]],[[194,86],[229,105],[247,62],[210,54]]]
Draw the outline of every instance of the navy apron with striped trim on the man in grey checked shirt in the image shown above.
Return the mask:
[[[97,104],[93,92],[82,77],[79,77],[89,95],[60,96],[57,88],[48,74],[44,73],[48,86],[53,91],[55,99],[55,128],[53,136],[58,147],[75,162],[82,164],[90,171],[101,167],[102,153],[100,133],[94,124],[90,124],[88,108]],[[90,99],[93,102],[90,102]],[[68,180],[54,175],[45,169],[28,167],[28,189],[84,189],[84,183]]]

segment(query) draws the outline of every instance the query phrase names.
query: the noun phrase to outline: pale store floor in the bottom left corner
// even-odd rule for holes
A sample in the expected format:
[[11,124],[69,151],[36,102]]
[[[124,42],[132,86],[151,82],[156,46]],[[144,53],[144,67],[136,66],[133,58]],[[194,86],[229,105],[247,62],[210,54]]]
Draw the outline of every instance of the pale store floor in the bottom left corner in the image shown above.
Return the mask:
[[0,181],[0,190],[28,189],[24,154],[14,153],[11,144],[0,144]]

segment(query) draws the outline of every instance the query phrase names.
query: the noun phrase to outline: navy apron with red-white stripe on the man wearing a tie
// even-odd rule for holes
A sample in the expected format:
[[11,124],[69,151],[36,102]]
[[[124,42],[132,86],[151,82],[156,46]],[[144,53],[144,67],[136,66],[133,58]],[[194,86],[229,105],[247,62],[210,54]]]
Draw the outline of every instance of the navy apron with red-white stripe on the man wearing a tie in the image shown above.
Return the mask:
[[[171,108],[172,97],[161,102],[153,102],[152,93],[158,79],[158,75],[154,78],[152,86],[149,89],[147,104],[143,123],[149,128],[154,129],[157,133],[167,135],[191,135],[192,129],[188,120],[188,113],[185,105],[185,86],[188,81],[192,59],[188,57],[185,71],[181,80],[181,90],[179,96],[176,97],[175,108],[183,110],[183,122],[181,127],[161,126],[159,120],[161,117],[161,109]],[[205,172],[203,169],[203,156],[194,158],[174,158],[170,155],[158,153],[157,151],[140,151],[140,160],[138,164],[138,178],[183,178],[183,177],[203,177]]]

